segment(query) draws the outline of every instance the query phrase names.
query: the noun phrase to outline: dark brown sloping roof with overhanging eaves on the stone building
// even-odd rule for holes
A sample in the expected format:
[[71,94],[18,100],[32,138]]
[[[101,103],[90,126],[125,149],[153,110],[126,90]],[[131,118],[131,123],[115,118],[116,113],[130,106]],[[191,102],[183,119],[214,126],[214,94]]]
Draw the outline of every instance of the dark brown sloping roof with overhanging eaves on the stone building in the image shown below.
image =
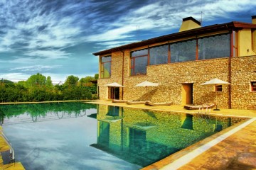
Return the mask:
[[186,38],[188,36],[191,35],[201,35],[203,33],[214,33],[216,31],[220,31],[220,30],[239,30],[242,28],[254,28],[256,29],[256,24],[252,24],[252,23],[242,23],[242,22],[237,22],[237,21],[233,21],[230,23],[222,23],[222,24],[215,24],[215,25],[211,25],[211,26],[205,26],[205,27],[201,27],[201,28],[195,28],[192,30],[185,30],[182,32],[178,32],[178,33],[172,33],[172,34],[168,34],[168,35],[163,35],[160,37],[156,37],[156,38],[151,38],[148,40],[142,40],[139,42],[133,42],[127,45],[121,45],[119,47],[113,47],[110,48],[108,50],[102,50],[100,52],[95,52],[93,53],[93,55],[106,55],[109,54],[111,52],[116,52],[116,51],[120,51],[120,50],[125,50],[125,49],[130,49],[130,48],[134,48],[134,47],[141,47],[144,45],[151,45],[154,43],[159,43],[159,42],[164,42],[164,41],[168,41],[168,40],[175,40],[178,38]]

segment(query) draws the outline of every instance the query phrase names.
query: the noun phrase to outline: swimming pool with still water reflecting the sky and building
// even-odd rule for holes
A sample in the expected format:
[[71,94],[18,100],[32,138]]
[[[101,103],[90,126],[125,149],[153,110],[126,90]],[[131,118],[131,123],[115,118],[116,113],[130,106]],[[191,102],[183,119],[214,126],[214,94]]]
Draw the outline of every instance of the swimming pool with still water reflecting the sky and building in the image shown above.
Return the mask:
[[0,108],[26,169],[140,169],[240,121],[80,102]]

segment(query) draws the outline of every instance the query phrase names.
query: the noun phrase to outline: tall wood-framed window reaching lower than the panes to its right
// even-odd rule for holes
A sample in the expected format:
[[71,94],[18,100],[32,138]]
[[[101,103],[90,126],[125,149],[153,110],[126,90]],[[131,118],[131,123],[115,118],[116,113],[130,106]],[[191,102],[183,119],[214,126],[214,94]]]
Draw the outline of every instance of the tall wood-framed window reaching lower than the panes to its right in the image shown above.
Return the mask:
[[148,64],[148,49],[131,52],[130,74],[131,76],[145,75]]

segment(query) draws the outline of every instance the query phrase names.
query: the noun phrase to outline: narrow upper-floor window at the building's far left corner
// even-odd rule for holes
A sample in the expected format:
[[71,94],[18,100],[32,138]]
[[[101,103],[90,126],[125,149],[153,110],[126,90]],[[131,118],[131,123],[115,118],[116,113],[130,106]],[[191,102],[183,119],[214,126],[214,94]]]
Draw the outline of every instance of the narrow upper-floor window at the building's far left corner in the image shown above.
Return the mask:
[[111,56],[101,57],[100,78],[110,78],[111,76]]

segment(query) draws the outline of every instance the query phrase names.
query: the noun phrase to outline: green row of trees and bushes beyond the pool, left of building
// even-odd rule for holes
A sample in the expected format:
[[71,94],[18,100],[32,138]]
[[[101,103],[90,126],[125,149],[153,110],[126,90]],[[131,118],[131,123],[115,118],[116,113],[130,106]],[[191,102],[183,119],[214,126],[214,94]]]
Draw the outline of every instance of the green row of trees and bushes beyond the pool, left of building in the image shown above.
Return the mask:
[[24,101],[65,101],[97,98],[97,84],[92,84],[95,77],[79,79],[70,75],[64,84],[53,84],[50,77],[34,74],[26,81],[13,82],[6,79],[0,81],[0,102]]

